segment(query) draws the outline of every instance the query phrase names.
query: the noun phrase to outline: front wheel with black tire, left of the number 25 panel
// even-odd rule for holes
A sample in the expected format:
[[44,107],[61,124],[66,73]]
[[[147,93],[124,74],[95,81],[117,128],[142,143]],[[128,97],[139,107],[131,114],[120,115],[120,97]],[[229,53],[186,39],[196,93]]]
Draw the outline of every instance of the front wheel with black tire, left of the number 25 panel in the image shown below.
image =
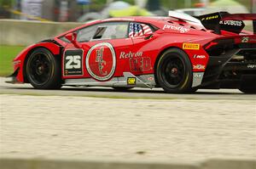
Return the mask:
[[61,59],[38,48],[26,61],[26,78],[37,89],[61,88]]

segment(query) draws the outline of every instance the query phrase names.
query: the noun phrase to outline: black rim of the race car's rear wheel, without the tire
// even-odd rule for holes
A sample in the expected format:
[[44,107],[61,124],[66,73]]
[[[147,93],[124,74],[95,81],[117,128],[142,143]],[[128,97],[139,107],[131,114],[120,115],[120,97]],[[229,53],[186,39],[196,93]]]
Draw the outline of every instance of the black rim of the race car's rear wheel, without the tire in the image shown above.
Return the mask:
[[183,60],[177,56],[170,56],[163,60],[160,68],[160,75],[166,86],[171,88],[179,87],[184,80],[185,67]]

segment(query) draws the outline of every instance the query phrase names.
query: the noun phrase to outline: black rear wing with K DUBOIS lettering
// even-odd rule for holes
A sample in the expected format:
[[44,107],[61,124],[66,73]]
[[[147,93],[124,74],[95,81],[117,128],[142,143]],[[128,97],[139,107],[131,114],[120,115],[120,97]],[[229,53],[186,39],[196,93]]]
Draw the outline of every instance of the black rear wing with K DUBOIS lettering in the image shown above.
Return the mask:
[[230,14],[227,12],[218,12],[212,14],[204,14],[197,17],[201,20],[201,24],[208,30],[212,30],[220,34],[221,30],[234,33],[241,33],[245,24],[243,20],[253,21],[253,34],[256,34],[256,14]]

